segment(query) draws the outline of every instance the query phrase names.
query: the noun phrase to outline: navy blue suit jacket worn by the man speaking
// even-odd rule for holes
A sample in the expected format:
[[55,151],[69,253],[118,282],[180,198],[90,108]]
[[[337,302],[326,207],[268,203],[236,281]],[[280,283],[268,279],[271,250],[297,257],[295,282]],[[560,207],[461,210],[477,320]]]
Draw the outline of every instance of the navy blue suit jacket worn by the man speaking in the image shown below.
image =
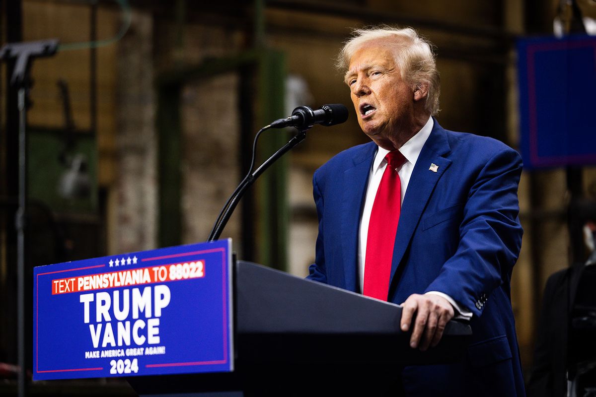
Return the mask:
[[[319,235],[309,279],[359,292],[358,227],[376,152],[374,142],[355,146],[315,172]],[[521,171],[519,154],[498,140],[434,120],[403,199],[388,301],[446,293],[473,312],[473,340],[463,362],[406,367],[406,395],[524,395],[510,300]]]

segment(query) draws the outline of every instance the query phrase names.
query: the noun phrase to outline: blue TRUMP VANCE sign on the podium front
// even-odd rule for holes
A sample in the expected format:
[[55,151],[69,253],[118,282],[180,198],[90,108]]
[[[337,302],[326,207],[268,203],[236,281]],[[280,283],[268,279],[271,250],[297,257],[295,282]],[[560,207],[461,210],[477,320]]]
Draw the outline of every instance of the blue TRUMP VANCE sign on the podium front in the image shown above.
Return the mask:
[[234,370],[231,240],[36,267],[33,379]]

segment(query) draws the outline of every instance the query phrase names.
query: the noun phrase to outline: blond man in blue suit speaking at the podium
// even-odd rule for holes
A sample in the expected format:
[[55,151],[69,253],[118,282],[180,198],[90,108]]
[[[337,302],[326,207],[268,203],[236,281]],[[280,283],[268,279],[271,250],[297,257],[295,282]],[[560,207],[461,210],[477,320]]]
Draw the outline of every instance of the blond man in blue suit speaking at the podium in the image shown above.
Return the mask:
[[404,368],[405,395],[523,396],[510,299],[519,154],[439,126],[434,54],[413,29],[356,30],[339,67],[373,142],[315,172],[309,279],[402,304],[412,348],[439,343],[454,316],[470,320],[464,360]]

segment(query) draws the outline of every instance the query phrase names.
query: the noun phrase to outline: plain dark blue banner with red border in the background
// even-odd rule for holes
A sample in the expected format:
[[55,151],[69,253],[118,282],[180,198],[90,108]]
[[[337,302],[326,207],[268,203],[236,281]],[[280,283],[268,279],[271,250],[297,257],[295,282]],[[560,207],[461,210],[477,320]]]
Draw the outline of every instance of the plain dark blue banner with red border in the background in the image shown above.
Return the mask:
[[517,42],[524,167],[596,164],[596,37]]

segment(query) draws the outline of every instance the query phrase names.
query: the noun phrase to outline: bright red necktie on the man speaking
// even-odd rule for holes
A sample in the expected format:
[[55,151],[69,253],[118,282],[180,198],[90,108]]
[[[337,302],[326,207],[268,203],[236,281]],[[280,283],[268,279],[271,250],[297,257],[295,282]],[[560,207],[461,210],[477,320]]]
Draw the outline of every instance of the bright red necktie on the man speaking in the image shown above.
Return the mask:
[[385,156],[387,167],[374,199],[368,223],[367,254],[364,262],[364,295],[387,300],[393,244],[398,231],[402,183],[396,168],[406,161],[398,151]]

